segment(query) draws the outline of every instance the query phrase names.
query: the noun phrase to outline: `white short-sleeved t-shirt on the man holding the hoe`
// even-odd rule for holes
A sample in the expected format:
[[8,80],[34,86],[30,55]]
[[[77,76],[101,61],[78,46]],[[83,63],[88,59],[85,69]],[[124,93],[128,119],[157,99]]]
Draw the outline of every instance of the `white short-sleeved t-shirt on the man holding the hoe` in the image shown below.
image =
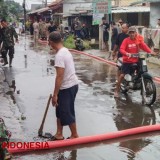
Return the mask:
[[73,57],[67,48],[63,47],[56,53],[54,66],[64,68],[64,77],[60,90],[78,84]]

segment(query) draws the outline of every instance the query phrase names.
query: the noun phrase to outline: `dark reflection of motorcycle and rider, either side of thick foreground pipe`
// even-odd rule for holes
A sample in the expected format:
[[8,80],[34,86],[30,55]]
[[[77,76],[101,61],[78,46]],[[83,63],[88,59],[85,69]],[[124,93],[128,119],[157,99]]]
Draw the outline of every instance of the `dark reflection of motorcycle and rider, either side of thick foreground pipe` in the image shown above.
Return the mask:
[[[153,125],[156,123],[155,113],[152,108],[133,103],[131,97],[126,100],[116,99],[117,113],[114,114],[114,121],[118,130],[124,130],[139,126]],[[139,138],[119,143],[120,150],[126,153],[129,160],[137,157],[137,152],[152,143],[150,139]]]

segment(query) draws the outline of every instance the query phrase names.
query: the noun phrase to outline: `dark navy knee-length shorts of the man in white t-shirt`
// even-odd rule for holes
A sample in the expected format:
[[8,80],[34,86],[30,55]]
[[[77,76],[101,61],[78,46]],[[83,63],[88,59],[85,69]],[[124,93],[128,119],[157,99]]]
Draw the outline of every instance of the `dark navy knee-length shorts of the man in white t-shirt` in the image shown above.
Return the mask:
[[71,125],[75,123],[74,101],[78,92],[78,85],[63,89],[58,94],[58,106],[56,107],[56,117],[60,119],[61,125]]

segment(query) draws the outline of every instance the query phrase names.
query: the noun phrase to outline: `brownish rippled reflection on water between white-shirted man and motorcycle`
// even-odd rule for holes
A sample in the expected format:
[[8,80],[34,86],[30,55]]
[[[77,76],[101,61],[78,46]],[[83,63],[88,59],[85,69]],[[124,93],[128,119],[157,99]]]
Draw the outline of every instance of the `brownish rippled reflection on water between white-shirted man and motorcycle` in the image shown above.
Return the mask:
[[74,56],[75,67],[79,79],[82,80],[85,84],[92,86],[93,81],[101,81],[110,83],[115,79],[116,69],[97,62],[94,59],[79,56]]

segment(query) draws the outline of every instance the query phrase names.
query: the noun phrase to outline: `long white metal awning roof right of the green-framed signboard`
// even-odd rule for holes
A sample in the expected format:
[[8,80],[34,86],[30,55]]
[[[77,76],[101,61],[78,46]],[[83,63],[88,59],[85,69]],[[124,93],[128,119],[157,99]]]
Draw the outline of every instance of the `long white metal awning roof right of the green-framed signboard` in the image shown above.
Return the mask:
[[150,12],[150,7],[146,6],[129,6],[129,7],[116,7],[112,8],[112,13],[143,13]]

